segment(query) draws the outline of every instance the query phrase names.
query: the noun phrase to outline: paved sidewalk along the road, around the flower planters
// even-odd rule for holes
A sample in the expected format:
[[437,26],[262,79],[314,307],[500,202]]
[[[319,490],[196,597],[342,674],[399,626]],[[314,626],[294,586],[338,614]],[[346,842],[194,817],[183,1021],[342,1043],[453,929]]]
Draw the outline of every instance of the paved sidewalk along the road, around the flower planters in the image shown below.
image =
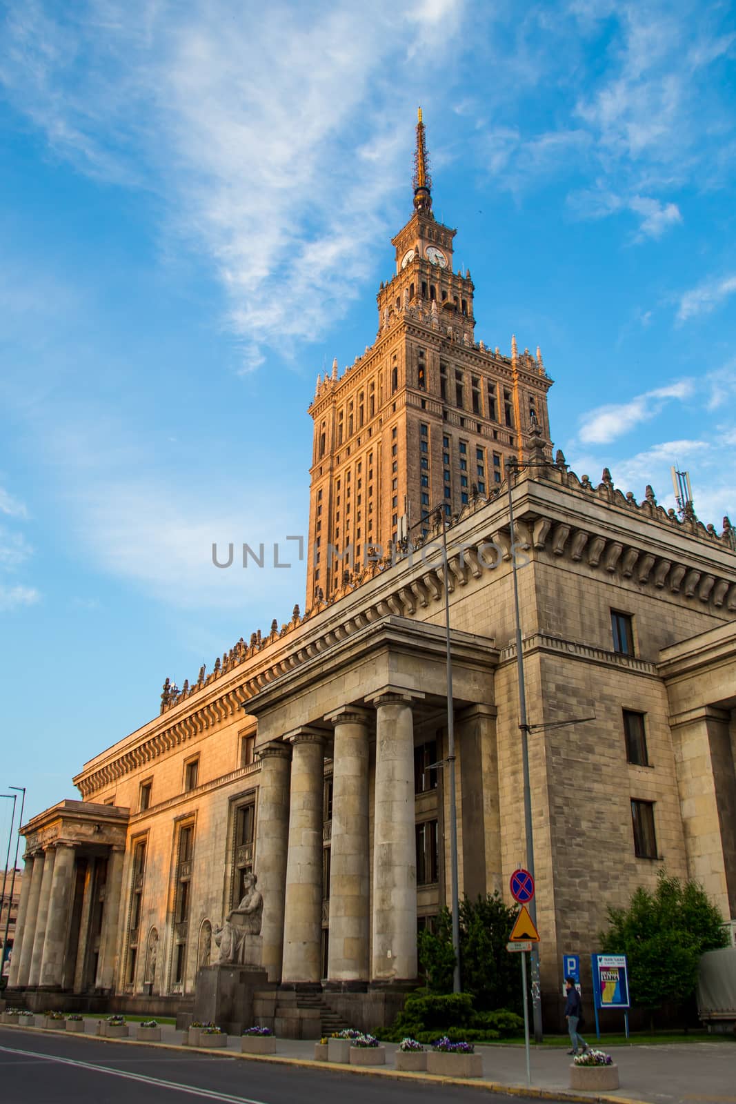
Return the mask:
[[[161,1043],[136,1043],[136,1021],[130,1021],[130,1038],[122,1040],[99,1039],[95,1034],[97,1017],[85,1017],[85,1034],[71,1038],[87,1038],[98,1042],[118,1045],[147,1047],[182,1047],[184,1032],[174,1027],[161,1025]],[[4,1027],[4,1025],[3,1025]],[[43,1028],[10,1027],[7,1030],[14,1034],[33,1032],[34,1036],[54,1033]],[[65,1032],[58,1032],[65,1034]],[[358,1075],[420,1078],[428,1081],[447,1082],[448,1079],[427,1078],[426,1074],[398,1073],[394,1069],[394,1043],[386,1043],[386,1064],[377,1069],[366,1070],[360,1066],[337,1065],[334,1063],[316,1063],[313,1040],[277,1039],[276,1054],[273,1057],[254,1058],[244,1055],[245,1061],[260,1062],[294,1062],[297,1065],[314,1065],[320,1069],[333,1069],[341,1072],[354,1072]],[[192,1048],[194,1049],[194,1048]],[[616,1047],[605,1048],[611,1054],[619,1068],[620,1089],[605,1095],[570,1093],[568,1090],[568,1066],[570,1059],[564,1050],[552,1047],[532,1047],[532,1085],[526,1085],[526,1068],[523,1047],[477,1047],[483,1055],[483,1078],[473,1081],[457,1081],[455,1084],[486,1087],[495,1092],[506,1092],[514,1095],[567,1098],[576,1101],[609,1100],[609,1101],[642,1101],[646,1104],[736,1104],[736,1044],[729,1041],[697,1042],[683,1044],[659,1044],[652,1047]],[[241,1039],[232,1036],[227,1048],[198,1052],[227,1054],[233,1058],[241,1054]]]

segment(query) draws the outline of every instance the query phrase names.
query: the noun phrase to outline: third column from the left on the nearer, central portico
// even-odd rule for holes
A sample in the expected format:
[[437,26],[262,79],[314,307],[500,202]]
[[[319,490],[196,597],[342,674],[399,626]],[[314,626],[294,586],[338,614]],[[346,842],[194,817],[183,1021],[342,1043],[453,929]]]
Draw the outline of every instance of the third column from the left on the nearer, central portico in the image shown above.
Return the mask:
[[369,980],[369,713],[349,705],[334,724],[328,979]]

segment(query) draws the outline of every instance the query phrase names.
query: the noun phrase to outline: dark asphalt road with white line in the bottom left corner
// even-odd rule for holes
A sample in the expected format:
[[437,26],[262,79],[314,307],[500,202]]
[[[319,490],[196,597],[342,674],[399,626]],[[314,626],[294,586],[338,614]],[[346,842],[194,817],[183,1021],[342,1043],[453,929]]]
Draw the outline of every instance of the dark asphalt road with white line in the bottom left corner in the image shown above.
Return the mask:
[[[460,1089],[0,1028],[2,1104],[478,1104]],[[494,1096],[499,1104],[523,1097]],[[531,1102],[530,1102],[531,1104]],[[538,1102],[534,1102],[538,1104]]]

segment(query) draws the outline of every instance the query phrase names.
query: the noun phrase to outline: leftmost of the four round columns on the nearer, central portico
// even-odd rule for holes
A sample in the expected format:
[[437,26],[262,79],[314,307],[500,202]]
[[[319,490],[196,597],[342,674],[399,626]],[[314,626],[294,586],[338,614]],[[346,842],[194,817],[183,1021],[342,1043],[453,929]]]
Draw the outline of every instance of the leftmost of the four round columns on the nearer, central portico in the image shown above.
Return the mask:
[[275,741],[258,751],[260,783],[256,814],[255,869],[264,899],[260,923],[262,964],[269,981],[281,979],[284,899],[289,841],[289,769],[291,747]]

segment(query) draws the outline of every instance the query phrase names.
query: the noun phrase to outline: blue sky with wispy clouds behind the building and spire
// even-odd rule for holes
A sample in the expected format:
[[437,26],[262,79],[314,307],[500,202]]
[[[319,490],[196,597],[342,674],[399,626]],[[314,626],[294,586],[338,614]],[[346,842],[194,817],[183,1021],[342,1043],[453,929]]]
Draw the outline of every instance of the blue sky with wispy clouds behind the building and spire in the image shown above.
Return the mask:
[[668,506],[679,463],[736,519],[732,4],[4,12],[0,783],[30,814],[303,607],[303,565],[211,546],[306,530],[306,410],[375,338],[418,104],[477,337],[542,347],[555,447]]

